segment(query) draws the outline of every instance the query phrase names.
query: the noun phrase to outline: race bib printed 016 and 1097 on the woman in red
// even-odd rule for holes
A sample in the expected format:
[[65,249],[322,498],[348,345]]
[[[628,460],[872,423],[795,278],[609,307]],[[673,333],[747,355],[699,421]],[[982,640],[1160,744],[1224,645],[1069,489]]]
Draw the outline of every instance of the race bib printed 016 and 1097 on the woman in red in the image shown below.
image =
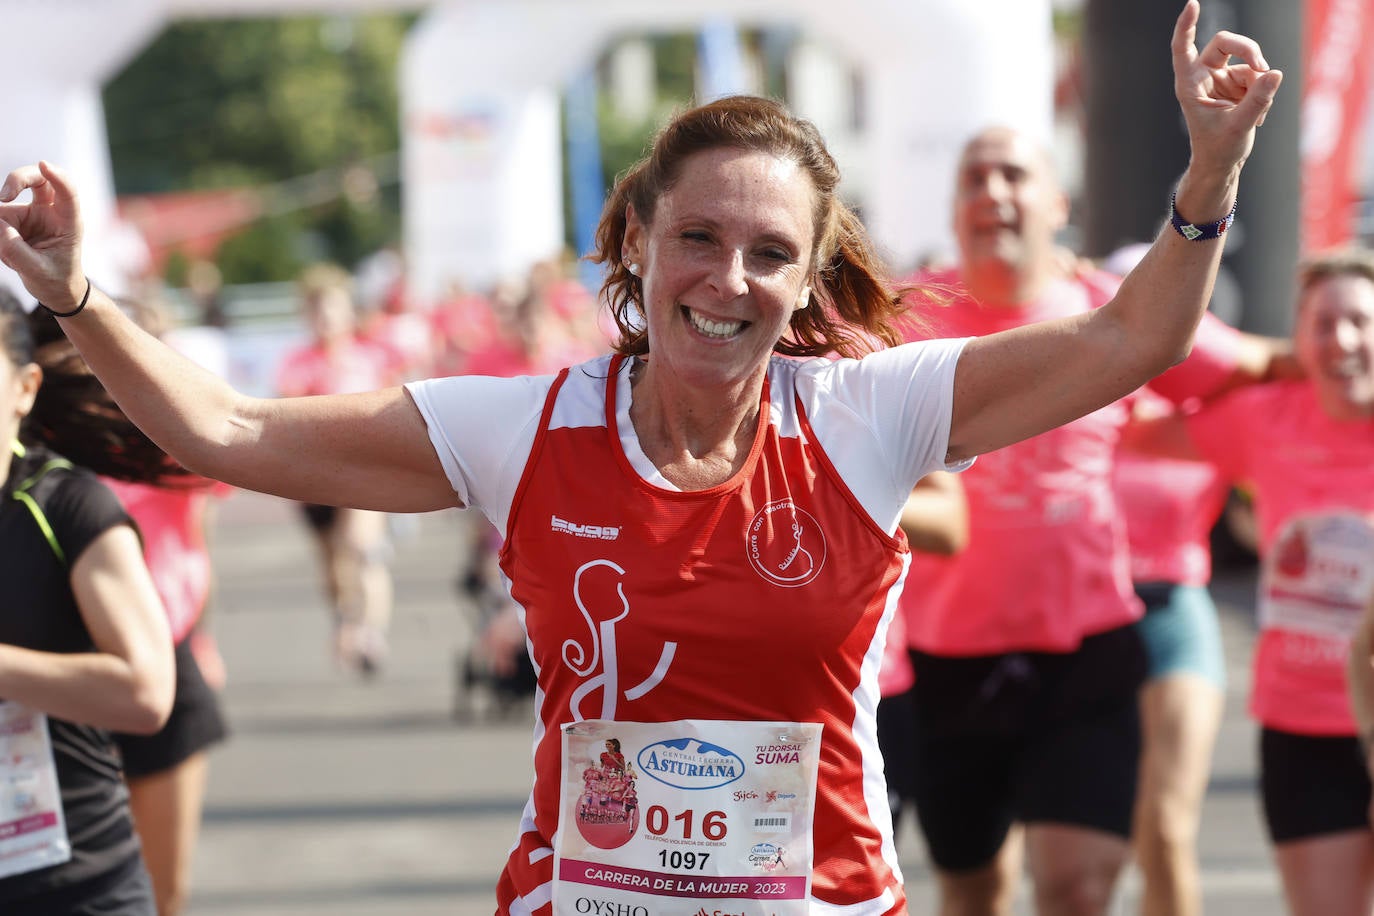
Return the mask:
[[820,729],[565,725],[554,912],[804,916]]

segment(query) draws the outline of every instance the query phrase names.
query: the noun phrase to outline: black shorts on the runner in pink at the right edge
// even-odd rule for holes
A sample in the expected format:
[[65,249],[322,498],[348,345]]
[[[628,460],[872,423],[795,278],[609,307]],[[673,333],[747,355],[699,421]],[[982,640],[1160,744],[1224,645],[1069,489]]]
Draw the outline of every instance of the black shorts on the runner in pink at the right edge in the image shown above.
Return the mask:
[[1370,828],[1370,776],[1353,736],[1263,729],[1260,790],[1274,843]]

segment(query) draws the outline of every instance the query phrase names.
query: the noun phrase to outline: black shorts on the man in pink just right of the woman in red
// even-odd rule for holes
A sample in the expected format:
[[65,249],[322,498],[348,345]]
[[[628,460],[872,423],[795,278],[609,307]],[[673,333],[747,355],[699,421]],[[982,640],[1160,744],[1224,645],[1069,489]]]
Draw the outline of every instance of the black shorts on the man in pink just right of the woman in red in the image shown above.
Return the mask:
[[912,786],[938,868],[988,865],[1017,821],[1129,838],[1146,672],[1134,626],[1069,654],[911,659]]

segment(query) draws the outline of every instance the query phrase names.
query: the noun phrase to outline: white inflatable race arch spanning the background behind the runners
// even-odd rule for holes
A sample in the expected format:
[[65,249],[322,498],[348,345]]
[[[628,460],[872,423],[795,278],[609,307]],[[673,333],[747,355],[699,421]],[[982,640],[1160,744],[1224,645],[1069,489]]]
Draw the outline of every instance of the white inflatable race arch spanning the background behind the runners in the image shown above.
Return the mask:
[[[562,246],[559,93],[627,34],[790,23],[846,56],[863,129],[835,152],[897,261],[949,247],[954,161],[973,130],[1051,139],[1050,0],[0,0],[15,26],[0,170],[66,166],[84,192],[88,268],[118,288],[103,81],[173,18],[407,8],[425,12],[400,77],[405,251],[422,293],[486,283]],[[815,117],[805,98],[787,102]]]

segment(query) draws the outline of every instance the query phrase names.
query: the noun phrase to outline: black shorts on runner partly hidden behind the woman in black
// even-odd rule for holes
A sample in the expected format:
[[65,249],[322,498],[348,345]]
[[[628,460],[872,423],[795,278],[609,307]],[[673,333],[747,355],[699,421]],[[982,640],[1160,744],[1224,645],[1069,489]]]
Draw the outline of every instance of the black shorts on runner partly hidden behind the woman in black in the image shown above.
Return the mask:
[[157,735],[115,733],[114,742],[124,757],[124,775],[137,779],[172,769],[227,736],[220,698],[205,683],[187,637],[176,647],[176,698],[166,725]]

